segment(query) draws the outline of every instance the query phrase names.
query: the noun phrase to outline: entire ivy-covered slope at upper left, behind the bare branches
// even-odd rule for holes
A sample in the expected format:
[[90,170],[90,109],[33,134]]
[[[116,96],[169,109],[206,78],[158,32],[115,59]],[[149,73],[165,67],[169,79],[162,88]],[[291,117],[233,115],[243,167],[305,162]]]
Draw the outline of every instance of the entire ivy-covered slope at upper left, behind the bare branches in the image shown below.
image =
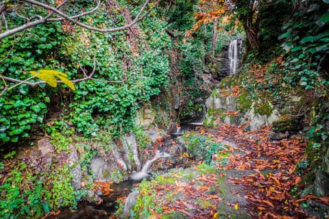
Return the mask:
[[[104,2],[97,12],[82,19],[90,25],[120,27],[140,8],[138,2]],[[59,70],[72,80],[93,73],[93,79],[75,83],[74,92],[64,85],[51,88],[44,84],[22,84],[5,92],[0,98],[0,145],[26,139],[40,127],[60,131],[68,123],[86,136],[97,136],[103,128],[114,135],[132,128],[138,107],[167,84],[166,51],[171,44],[164,31],[164,13],[154,8],[138,25],[108,34],[51,23],[1,40],[0,73],[4,77],[25,80],[32,76],[29,70],[44,68]],[[15,84],[1,83],[2,88]],[[55,119],[47,124],[49,117]]]

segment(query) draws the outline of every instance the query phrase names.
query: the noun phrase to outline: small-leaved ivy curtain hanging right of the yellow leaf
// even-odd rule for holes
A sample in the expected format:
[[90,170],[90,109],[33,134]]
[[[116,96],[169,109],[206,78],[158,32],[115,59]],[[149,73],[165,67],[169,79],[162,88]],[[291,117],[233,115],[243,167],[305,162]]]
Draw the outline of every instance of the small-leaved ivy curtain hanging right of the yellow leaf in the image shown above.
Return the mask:
[[[102,22],[110,19],[104,15]],[[127,42],[125,32],[99,34],[84,30],[66,41],[69,56],[76,62],[73,66],[92,68],[97,51],[95,78],[99,80],[79,83],[70,105],[70,118],[77,131],[96,136],[101,128],[115,127],[113,134],[119,136],[121,131],[132,129],[138,108],[167,84],[169,61],[164,49],[169,36],[164,34],[164,25],[150,14],[139,24],[141,33],[134,42]]]

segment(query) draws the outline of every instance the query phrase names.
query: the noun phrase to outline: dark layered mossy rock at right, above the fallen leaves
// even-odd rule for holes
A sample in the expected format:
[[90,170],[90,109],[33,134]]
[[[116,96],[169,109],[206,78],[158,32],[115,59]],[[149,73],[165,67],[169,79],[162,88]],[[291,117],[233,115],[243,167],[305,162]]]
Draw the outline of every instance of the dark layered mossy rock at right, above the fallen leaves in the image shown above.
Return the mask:
[[274,132],[298,131],[303,129],[302,119],[304,116],[282,116],[280,120],[273,122]]

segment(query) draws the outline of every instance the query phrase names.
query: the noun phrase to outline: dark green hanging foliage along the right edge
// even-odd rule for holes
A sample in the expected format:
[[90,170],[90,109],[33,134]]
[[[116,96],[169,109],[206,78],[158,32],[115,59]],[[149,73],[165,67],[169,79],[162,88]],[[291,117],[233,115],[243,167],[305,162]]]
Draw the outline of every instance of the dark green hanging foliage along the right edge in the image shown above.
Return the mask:
[[328,150],[328,4],[328,1],[310,4],[295,1],[296,11],[279,37],[284,40],[282,47],[286,51],[285,81],[317,92],[309,106],[312,123],[306,149],[313,170],[326,166],[324,155]]

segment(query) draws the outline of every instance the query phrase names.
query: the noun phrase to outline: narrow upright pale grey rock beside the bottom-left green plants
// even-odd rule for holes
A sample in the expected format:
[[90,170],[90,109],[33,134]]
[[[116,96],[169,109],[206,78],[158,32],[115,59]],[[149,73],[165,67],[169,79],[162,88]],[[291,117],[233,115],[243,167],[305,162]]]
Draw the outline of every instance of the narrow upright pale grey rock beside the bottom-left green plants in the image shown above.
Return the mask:
[[79,156],[77,154],[77,149],[73,144],[70,144],[69,148],[71,151],[69,154],[69,171],[72,175],[71,184],[74,190],[80,190],[82,183],[82,172],[79,164]]

